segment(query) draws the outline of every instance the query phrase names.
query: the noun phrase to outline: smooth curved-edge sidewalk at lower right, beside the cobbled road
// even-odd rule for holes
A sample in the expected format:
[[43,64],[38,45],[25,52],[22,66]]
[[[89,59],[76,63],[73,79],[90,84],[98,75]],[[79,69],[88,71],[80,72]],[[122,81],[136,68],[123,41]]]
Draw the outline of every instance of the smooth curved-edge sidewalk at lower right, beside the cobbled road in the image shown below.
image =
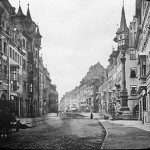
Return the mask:
[[[99,116],[96,114],[96,117]],[[101,149],[150,148],[150,124],[136,120],[98,120],[106,129]]]

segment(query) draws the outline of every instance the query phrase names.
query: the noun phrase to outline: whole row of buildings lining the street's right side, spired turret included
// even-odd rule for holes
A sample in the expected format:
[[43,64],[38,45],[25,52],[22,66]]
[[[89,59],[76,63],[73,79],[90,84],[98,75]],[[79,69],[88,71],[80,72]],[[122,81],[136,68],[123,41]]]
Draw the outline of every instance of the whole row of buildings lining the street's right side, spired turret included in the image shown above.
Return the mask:
[[[150,122],[150,2],[136,0],[135,15],[129,27],[122,7],[120,27],[113,39],[117,44],[109,56],[109,65],[92,84],[85,82],[76,95],[79,109],[90,106],[100,114]],[[94,86],[97,83],[96,93]],[[83,91],[86,91],[85,93]],[[81,97],[80,93],[88,95]],[[64,96],[65,97],[65,96]],[[65,99],[65,98],[63,98]],[[62,101],[64,101],[62,99]],[[91,103],[91,102],[93,103]],[[64,107],[63,107],[64,108]],[[66,108],[65,108],[66,109]],[[85,111],[85,110],[84,110]]]

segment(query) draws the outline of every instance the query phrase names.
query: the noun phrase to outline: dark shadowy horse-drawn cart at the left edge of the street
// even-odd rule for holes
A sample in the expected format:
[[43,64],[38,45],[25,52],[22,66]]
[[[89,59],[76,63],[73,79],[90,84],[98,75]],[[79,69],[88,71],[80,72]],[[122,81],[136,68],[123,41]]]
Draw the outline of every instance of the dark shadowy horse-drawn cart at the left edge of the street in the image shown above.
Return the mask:
[[8,137],[15,122],[15,103],[0,99],[0,137]]

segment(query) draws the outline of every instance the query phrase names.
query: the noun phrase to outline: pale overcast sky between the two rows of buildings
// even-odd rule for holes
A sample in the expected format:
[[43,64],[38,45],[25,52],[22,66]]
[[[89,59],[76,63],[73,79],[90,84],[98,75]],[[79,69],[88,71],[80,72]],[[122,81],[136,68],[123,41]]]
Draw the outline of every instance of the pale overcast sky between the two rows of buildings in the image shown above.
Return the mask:
[[[18,11],[19,0],[9,0]],[[98,61],[105,68],[112,52],[117,24],[120,25],[122,0],[20,0],[26,15],[38,22],[42,37],[44,65],[59,100],[79,86],[91,65]],[[135,15],[135,0],[125,0],[127,25]]]

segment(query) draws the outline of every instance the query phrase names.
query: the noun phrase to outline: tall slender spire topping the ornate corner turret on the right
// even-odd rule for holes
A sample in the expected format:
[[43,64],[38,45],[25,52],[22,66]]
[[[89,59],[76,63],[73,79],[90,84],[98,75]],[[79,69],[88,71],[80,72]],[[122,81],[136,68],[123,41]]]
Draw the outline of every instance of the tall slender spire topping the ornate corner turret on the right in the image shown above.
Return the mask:
[[123,6],[122,6],[121,22],[120,22],[120,32],[122,31],[128,31],[128,27],[126,24],[125,11],[124,11],[124,1],[123,1]]

